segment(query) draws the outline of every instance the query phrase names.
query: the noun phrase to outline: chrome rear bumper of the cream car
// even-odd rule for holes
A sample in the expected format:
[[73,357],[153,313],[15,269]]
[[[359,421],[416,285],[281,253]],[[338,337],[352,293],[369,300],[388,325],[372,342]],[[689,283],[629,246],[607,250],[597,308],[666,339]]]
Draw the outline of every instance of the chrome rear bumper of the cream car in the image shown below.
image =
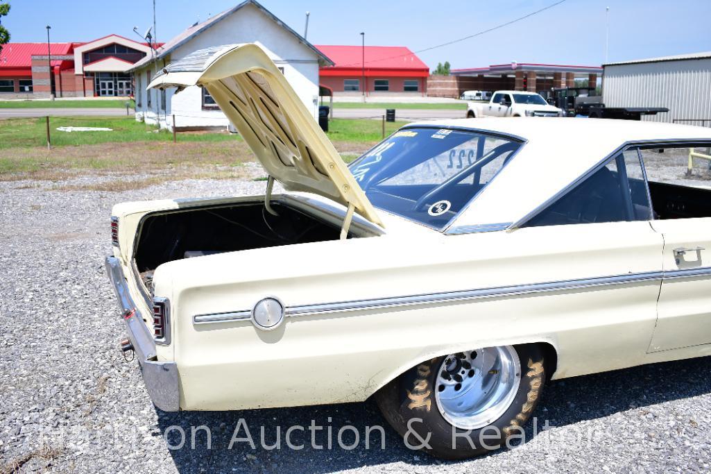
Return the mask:
[[156,343],[148,327],[143,322],[141,312],[129,294],[129,288],[119,259],[107,257],[106,271],[109,274],[114,293],[116,293],[116,297],[119,300],[122,314],[126,314],[127,311],[130,312],[122,319],[126,324],[129,340],[136,352],[151,400],[155,406],[163,411],[178,411],[180,409],[180,391],[178,389],[178,367],[176,363],[158,362],[156,360]]

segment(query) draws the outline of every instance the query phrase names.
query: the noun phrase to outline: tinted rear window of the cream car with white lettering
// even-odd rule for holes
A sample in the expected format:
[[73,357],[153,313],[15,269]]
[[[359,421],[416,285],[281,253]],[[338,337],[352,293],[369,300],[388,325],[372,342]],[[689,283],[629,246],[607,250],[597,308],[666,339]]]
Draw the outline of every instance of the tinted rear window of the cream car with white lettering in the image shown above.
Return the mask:
[[407,128],[358,158],[351,172],[373,206],[442,230],[520,147],[481,132]]

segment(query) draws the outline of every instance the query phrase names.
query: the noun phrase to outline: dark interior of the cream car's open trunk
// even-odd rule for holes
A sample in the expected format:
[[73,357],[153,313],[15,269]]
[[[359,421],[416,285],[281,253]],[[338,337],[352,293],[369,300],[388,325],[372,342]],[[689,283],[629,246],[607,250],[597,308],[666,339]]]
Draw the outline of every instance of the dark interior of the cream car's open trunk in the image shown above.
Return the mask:
[[[162,263],[214,253],[336,240],[341,228],[272,201],[149,214],[139,228],[134,258],[151,290],[153,271]],[[353,229],[348,237],[353,237]],[[151,291],[152,293],[152,291]]]

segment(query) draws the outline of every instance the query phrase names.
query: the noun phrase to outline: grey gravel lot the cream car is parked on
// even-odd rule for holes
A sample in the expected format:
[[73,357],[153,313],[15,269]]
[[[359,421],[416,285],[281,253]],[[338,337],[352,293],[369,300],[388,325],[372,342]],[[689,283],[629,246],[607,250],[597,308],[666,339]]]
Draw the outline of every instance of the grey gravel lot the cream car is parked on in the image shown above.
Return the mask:
[[[92,178],[84,178],[92,179]],[[98,179],[98,178],[97,178]],[[36,187],[35,187],[36,186]],[[167,414],[154,409],[136,362],[124,362],[119,310],[103,268],[110,251],[109,210],[119,201],[254,194],[263,181],[180,181],[125,193],[53,191],[51,184],[0,182],[0,466],[12,472],[309,472],[540,473],[711,470],[711,359],[655,364],[555,381],[546,387],[538,433],[511,451],[461,463],[410,451],[385,425],[372,401],[226,413]],[[246,423],[257,444],[236,442]],[[324,449],[309,431],[324,426]],[[550,427],[540,432],[545,425]],[[196,432],[191,449],[191,426]],[[337,448],[336,433],[385,426],[366,449]],[[188,440],[177,446],[180,430]],[[282,448],[274,443],[282,426]],[[327,448],[328,427],[333,449]],[[163,433],[169,432],[168,439]],[[244,437],[245,431],[237,437]],[[350,436],[350,437],[349,437]],[[344,436],[346,442],[353,439]]]

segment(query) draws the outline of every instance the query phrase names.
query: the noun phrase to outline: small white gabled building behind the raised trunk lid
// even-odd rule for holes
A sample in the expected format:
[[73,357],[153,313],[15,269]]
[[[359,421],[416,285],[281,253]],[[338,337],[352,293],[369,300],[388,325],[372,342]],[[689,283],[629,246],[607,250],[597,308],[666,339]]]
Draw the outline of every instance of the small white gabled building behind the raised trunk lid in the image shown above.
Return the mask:
[[311,43],[255,0],[246,0],[203,23],[196,23],[157,48],[131,69],[136,81],[136,120],[182,130],[227,127],[228,120],[203,88],[146,90],[150,79],[172,61],[198,49],[233,43],[258,43],[282,70],[299,98],[318,118],[319,66],[333,63]]

